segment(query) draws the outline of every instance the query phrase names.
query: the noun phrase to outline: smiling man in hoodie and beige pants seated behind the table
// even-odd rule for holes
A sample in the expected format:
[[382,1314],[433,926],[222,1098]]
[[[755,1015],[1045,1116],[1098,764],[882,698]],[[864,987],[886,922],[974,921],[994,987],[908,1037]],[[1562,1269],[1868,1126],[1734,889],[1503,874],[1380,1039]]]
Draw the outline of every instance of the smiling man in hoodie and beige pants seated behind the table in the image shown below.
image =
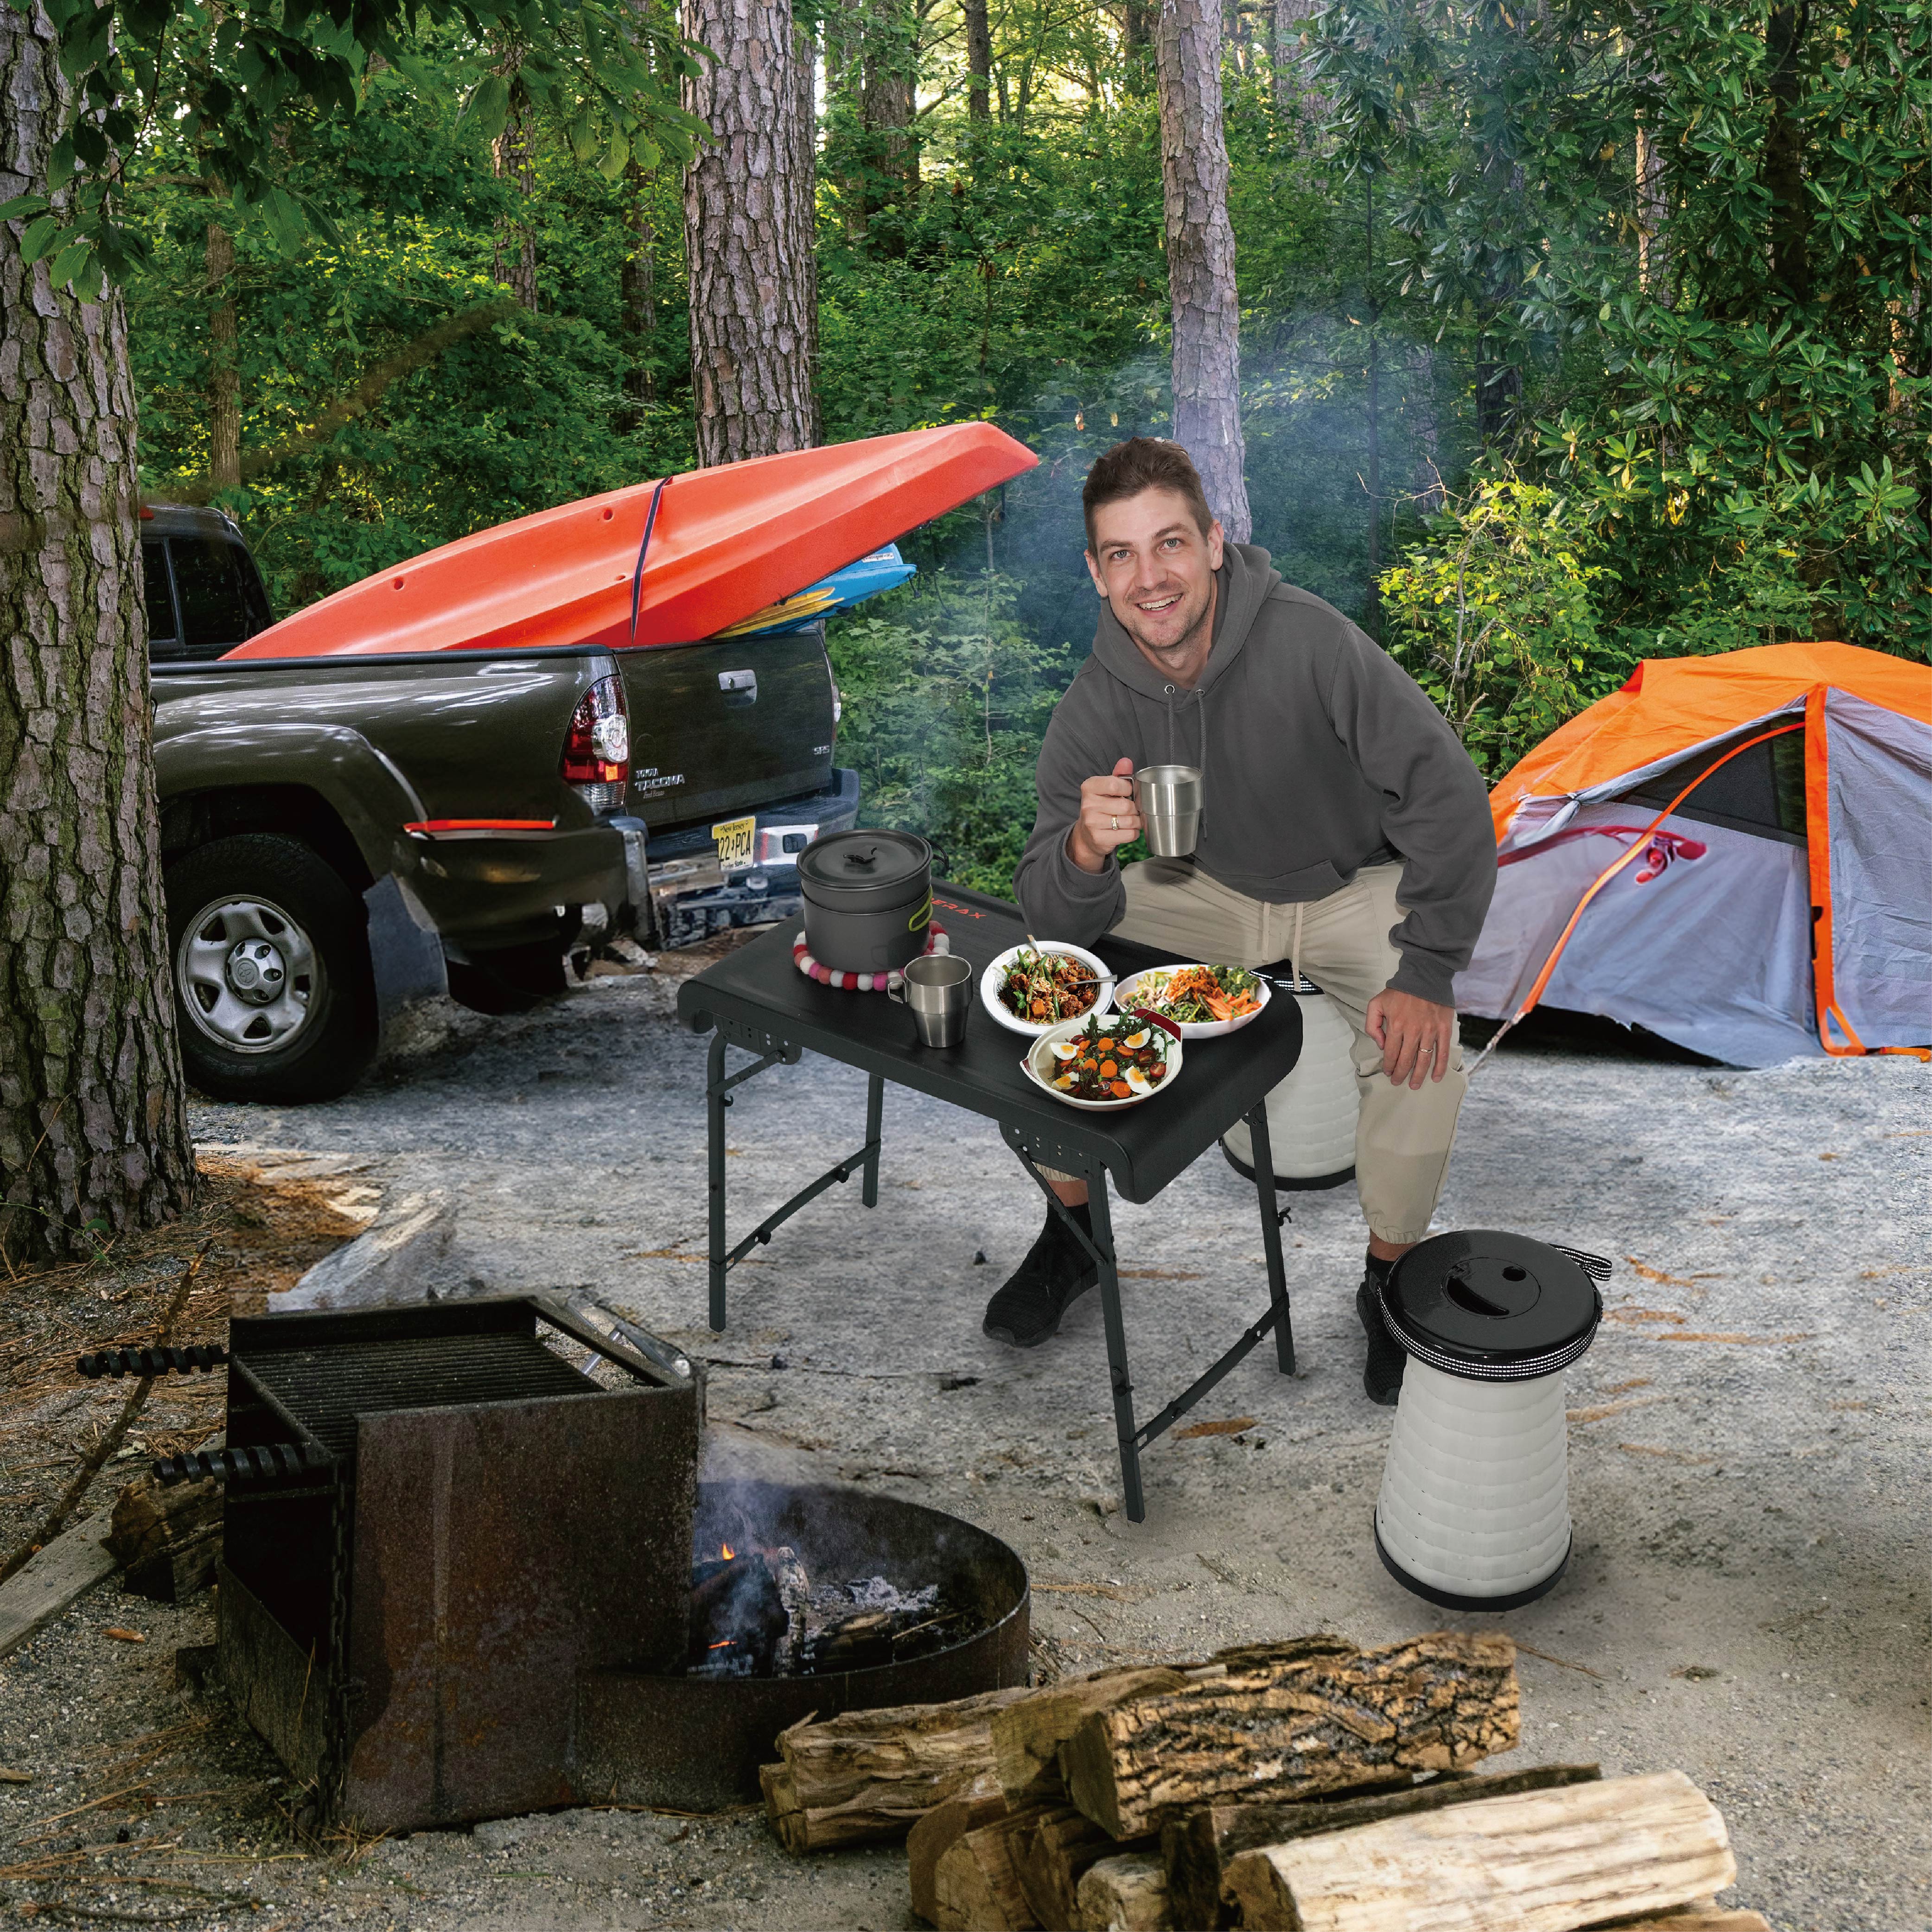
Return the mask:
[[[1453,976],[1495,887],[1482,779],[1414,680],[1339,611],[1229,543],[1173,442],[1134,437],[1088,475],[1094,655],[1039,748],[1039,817],[1014,875],[1032,931],[1140,939],[1179,958],[1291,958],[1354,1030],[1356,1188],[1368,1260],[1364,1387],[1393,1403],[1403,1350],[1376,1287],[1428,1233],[1466,1076]],[[1121,867],[1134,771],[1204,775],[1188,860]],[[1086,1184],[1053,1190],[1088,1223]],[[1049,1211],[985,1331],[1032,1349],[1099,1279]]]

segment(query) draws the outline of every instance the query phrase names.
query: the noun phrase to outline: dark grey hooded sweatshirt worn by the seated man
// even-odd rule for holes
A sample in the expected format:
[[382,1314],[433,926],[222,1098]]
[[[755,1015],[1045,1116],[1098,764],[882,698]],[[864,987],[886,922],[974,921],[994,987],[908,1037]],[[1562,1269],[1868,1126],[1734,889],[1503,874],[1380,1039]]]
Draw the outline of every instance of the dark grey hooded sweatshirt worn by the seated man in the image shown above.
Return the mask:
[[1194,690],[1169,684],[1101,603],[1094,655],[1039,748],[1039,817],[1014,895],[1041,937],[1092,945],[1126,906],[1121,867],[1066,856],[1080,781],[1115,759],[1200,765],[1194,862],[1277,906],[1325,898],[1362,866],[1403,862],[1391,929],[1397,991],[1453,1005],[1495,889],[1476,767],[1443,715],[1339,611],[1281,582],[1267,551],[1229,543],[1213,649]]

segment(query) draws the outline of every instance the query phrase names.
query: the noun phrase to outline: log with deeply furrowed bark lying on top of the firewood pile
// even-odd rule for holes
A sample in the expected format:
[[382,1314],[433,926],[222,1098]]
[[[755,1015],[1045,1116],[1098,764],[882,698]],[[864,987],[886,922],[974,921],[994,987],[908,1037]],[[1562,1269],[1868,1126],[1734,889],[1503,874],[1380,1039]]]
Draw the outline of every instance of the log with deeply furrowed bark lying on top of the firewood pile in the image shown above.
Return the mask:
[[1113,1837],[1217,1799],[1294,1799],[1461,1770],[1517,1743],[1517,1646],[1437,1631],[1383,1650],[1227,1654],[1202,1677],[1094,1712],[1061,1747],[1068,1793]]

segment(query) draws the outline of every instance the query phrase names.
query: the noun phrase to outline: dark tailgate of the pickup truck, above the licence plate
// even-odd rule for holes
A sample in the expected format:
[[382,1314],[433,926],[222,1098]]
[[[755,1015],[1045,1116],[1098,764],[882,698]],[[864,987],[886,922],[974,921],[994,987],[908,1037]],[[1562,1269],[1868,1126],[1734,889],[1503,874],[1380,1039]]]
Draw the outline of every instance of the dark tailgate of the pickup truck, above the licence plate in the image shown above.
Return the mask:
[[819,626],[616,657],[632,800],[653,835],[831,784],[833,682]]

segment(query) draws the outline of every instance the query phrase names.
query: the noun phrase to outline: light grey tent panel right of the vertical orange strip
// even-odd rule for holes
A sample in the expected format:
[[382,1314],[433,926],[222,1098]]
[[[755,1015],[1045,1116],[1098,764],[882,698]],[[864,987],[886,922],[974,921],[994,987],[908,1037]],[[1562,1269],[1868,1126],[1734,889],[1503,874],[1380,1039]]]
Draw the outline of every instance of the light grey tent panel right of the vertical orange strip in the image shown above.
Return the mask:
[[[1868,1047],[1932,1041],[1932,726],[1830,690],[1832,981]],[[1648,1022],[1646,1022],[1648,1024]]]

